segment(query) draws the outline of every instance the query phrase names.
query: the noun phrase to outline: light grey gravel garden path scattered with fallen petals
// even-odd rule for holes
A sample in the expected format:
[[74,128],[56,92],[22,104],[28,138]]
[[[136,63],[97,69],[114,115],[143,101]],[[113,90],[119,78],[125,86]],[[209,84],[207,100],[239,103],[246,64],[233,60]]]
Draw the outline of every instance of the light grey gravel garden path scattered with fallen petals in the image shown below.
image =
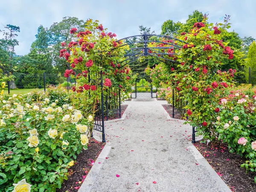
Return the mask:
[[165,101],[133,99],[125,104],[125,119],[105,123],[108,159],[93,173],[93,184],[79,192],[229,191],[218,175],[195,160],[189,148],[192,127],[169,118],[161,106]]

